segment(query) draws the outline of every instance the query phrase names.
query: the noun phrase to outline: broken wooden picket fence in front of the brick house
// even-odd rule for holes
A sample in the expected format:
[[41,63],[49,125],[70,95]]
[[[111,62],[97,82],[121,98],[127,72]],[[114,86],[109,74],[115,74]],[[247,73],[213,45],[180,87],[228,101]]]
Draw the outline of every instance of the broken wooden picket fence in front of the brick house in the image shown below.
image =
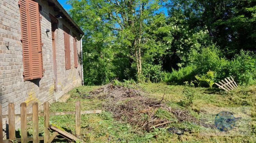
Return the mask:
[[[14,104],[8,104],[8,115],[2,115],[2,106],[0,105],[0,143],[9,143],[9,142],[22,142],[27,143],[28,141],[33,141],[38,143],[40,140],[44,140],[44,143],[52,142],[58,134],[62,137],[70,139],[70,141],[75,141],[75,136],[66,132],[58,131],[54,126],[49,124],[49,116],[53,115],[69,115],[75,114],[75,134],[79,136],[81,133],[81,114],[91,114],[91,113],[101,113],[101,110],[91,110],[91,111],[81,111],[80,101],[75,103],[75,111],[68,112],[49,112],[49,102],[44,102],[43,112],[38,111],[38,103],[34,102],[32,104],[32,113],[27,113],[27,104],[23,102],[20,104],[20,114],[15,114]],[[27,137],[27,117],[32,116],[32,137]],[[39,137],[39,128],[38,128],[38,117],[44,117],[44,136]],[[15,137],[15,117],[20,117],[20,129],[21,129],[21,138]],[[9,125],[9,139],[3,139],[3,123],[2,118],[8,118]],[[50,129],[55,131],[52,136],[50,136]]]

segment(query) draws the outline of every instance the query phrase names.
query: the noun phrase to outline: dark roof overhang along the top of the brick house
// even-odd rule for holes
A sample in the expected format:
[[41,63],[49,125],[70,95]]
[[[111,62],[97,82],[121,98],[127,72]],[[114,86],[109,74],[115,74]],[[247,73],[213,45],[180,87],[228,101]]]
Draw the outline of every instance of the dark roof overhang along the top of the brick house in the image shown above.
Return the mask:
[[73,25],[73,28],[77,29],[77,33],[84,35],[83,30],[77,25],[74,19],[67,13],[67,11],[61,6],[58,0],[48,0],[48,5],[52,6],[55,12],[59,12],[63,16],[63,19],[66,19],[69,24]]

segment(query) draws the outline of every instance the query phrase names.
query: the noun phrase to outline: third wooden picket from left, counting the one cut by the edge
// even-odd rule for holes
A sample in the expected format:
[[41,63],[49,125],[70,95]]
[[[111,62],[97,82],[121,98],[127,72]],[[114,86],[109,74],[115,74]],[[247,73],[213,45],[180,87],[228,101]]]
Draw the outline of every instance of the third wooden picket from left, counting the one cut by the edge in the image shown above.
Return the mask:
[[20,128],[21,128],[21,142],[27,143],[27,104],[22,102],[20,104]]

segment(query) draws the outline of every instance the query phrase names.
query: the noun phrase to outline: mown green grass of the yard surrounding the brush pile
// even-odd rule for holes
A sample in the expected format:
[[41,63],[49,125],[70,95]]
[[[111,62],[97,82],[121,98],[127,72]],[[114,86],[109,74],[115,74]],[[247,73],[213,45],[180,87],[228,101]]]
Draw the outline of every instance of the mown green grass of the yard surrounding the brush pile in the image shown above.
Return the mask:
[[[190,114],[199,118],[199,111],[202,107],[250,107],[251,124],[248,136],[200,136],[199,125],[189,122],[177,122],[173,114],[165,110],[158,109],[156,116],[166,118],[170,121],[168,127],[187,128],[190,132],[183,135],[169,133],[167,128],[154,128],[151,132],[139,130],[128,123],[114,119],[108,111],[101,114],[82,115],[81,130],[82,136],[87,142],[256,142],[256,85],[249,87],[239,87],[230,93],[225,93],[218,89],[192,88],[195,91],[193,103],[188,107],[181,107],[180,102],[185,98],[183,94],[184,86],[167,85],[165,83],[145,83],[138,84],[145,96],[161,99],[165,94],[165,103],[170,107],[180,107],[190,111]],[[80,86],[78,89],[83,94],[99,86]],[[50,112],[55,111],[74,111],[75,101],[81,101],[81,110],[102,109],[102,100],[83,99],[76,93],[76,89],[69,92],[71,98],[66,103],[55,102],[50,107]],[[50,116],[50,122],[60,126],[68,132],[75,132],[75,116],[61,115]],[[30,124],[30,123],[29,123]],[[39,118],[39,130],[43,134],[43,117]],[[32,132],[32,130],[28,130]],[[65,142],[59,140],[56,142]]]

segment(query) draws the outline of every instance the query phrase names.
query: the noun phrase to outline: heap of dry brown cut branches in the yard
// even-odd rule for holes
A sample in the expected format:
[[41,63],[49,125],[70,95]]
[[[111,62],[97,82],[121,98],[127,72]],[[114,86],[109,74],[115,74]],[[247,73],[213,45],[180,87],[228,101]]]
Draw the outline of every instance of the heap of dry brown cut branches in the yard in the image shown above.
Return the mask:
[[134,88],[112,84],[106,84],[90,92],[92,96],[104,100],[103,108],[111,112],[114,118],[144,130],[151,130],[153,127],[165,127],[168,123],[174,122],[156,116],[155,113],[159,108],[175,115],[178,121],[196,122],[196,119],[188,111],[167,107],[163,103],[164,96],[157,100],[142,96],[141,93]]

